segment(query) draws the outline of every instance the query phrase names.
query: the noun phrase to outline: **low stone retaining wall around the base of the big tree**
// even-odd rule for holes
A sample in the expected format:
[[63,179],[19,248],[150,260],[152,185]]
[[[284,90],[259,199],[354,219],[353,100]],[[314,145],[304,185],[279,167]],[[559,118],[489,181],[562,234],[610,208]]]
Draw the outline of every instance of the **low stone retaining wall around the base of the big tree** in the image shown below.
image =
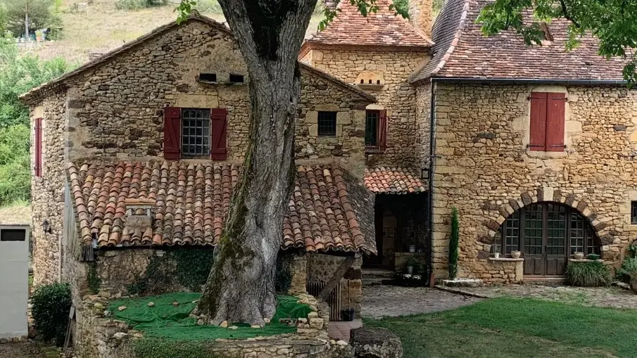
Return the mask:
[[[135,340],[143,339],[124,321],[113,319],[106,292],[84,297],[77,307],[73,331],[75,355],[81,358],[136,358]],[[228,358],[349,358],[351,345],[330,340],[327,335],[329,310],[311,295],[298,295],[299,302],[312,307],[307,319],[298,319],[296,333],[256,337],[246,340],[217,339],[206,345],[206,352]]]

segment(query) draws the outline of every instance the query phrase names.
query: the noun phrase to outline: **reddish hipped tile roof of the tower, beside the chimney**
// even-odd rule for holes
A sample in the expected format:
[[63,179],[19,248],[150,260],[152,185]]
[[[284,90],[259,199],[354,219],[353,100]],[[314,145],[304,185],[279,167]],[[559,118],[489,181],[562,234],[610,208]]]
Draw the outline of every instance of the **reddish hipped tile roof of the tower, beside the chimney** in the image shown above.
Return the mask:
[[377,13],[363,16],[350,1],[341,1],[334,21],[310,37],[308,44],[424,46],[433,42],[420,34],[401,15],[389,10],[390,0],[377,0]]

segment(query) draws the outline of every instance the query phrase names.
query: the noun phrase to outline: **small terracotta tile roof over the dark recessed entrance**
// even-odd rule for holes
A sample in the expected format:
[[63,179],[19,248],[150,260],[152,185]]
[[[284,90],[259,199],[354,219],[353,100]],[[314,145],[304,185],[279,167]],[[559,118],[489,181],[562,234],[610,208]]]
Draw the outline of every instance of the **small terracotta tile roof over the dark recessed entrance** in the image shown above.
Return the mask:
[[367,168],[365,169],[365,186],[372,193],[377,194],[408,194],[427,191],[416,174],[403,168]]

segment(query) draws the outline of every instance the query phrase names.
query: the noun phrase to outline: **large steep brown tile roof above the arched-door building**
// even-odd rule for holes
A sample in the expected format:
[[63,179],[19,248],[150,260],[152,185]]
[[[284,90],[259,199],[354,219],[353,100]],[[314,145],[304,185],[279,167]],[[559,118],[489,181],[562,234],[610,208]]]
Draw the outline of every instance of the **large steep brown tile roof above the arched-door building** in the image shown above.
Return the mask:
[[[527,46],[512,31],[484,37],[476,19],[490,0],[448,0],[434,24],[436,43],[432,60],[412,76],[412,82],[429,77],[473,79],[578,79],[621,82],[622,58],[607,60],[598,55],[598,39],[592,35],[581,45],[566,51],[565,19],[547,24],[553,41],[543,46]],[[532,13],[525,15],[530,21]]]

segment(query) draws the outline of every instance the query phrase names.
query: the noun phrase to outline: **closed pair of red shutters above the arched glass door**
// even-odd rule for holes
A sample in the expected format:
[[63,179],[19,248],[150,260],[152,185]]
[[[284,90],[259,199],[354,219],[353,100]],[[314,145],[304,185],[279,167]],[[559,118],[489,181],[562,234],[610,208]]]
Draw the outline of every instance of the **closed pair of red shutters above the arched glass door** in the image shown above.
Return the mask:
[[564,151],[565,102],[565,94],[531,93],[531,151]]

